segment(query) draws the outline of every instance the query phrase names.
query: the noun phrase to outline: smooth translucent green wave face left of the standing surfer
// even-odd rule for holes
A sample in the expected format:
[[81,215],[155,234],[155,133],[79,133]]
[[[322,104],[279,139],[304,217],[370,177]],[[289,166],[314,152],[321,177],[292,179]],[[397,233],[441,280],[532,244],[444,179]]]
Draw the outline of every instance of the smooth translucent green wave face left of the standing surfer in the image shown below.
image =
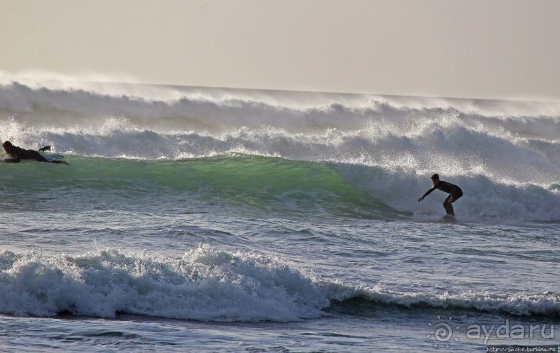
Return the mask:
[[4,184],[22,193],[56,190],[67,198],[148,197],[154,205],[160,202],[158,198],[180,195],[245,214],[350,218],[398,214],[344,182],[332,166],[321,162],[237,154],[180,161],[79,156],[67,160],[70,166],[37,162],[4,165]]

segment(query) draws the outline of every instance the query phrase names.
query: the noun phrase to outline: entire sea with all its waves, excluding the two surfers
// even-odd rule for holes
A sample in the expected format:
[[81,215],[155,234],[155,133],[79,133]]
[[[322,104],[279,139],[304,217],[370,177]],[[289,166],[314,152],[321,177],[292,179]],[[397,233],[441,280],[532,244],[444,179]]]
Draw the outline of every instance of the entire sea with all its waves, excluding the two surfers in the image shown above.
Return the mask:
[[1,352],[560,343],[560,103],[4,81]]

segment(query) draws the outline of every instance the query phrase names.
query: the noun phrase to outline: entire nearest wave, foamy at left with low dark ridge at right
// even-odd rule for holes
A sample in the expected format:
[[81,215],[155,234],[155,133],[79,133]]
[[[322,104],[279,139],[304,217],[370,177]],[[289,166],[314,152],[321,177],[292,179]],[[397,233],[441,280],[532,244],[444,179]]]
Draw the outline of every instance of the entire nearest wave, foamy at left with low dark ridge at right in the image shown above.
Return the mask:
[[203,246],[172,258],[99,249],[0,253],[0,313],[113,318],[119,313],[218,322],[289,322],[376,307],[560,316],[555,292],[399,293],[314,279],[278,258]]

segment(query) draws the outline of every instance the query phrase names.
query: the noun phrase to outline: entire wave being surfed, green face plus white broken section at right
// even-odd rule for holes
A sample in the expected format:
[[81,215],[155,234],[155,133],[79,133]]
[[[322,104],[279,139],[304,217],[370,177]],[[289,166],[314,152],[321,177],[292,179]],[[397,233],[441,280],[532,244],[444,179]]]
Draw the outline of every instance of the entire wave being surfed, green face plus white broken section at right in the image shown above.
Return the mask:
[[[67,156],[70,166],[24,162],[2,166],[6,198],[13,191],[55,194],[80,200],[133,198],[198,200],[262,214],[334,215],[350,218],[418,221],[436,219],[444,195],[430,202],[417,198],[429,187],[428,175],[405,167],[307,162],[231,153],[185,160],[130,160]],[[560,220],[558,184],[507,184],[486,175],[452,177],[465,191],[457,212],[462,221]],[[427,200],[426,200],[427,201]],[[62,207],[53,205],[52,207]],[[169,205],[171,209],[173,205]]]

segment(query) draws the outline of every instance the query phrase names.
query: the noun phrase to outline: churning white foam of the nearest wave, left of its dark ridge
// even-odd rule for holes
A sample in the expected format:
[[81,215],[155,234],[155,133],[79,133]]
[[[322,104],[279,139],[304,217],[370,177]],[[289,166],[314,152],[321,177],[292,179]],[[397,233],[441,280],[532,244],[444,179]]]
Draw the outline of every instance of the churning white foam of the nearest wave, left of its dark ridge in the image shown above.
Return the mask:
[[100,250],[83,256],[0,255],[0,312],[205,321],[292,321],[328,300],[307,278],[260,255],[198,248],[182,259]]

